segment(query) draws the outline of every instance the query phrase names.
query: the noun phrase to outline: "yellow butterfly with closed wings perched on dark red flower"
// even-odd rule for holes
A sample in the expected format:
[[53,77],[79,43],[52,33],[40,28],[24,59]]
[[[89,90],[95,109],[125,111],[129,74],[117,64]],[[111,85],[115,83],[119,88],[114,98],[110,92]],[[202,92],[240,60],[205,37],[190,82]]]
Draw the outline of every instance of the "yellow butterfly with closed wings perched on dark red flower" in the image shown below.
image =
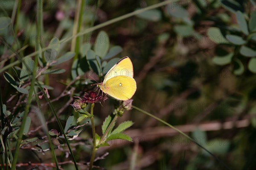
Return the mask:
[[137,87],[133,78],[133,65],[129,57],[123,57],[108,71],[98,87],[115,99],[131,99]]

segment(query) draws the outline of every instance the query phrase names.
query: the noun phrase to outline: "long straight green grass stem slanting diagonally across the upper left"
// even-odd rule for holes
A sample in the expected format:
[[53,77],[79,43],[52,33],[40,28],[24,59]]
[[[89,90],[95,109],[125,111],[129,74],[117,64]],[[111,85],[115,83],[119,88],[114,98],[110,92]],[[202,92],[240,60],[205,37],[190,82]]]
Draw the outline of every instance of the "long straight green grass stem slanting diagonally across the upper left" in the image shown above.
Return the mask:
[[[103,28],[103,27],[108,26],[108,25],[110,25],[110,24],[113,24],[113,23],[116,23],[116,22],[118,22],[118,21],[124,20],[124,19],[126,19],[126,18],[128,18],[128,17],[132,17],[132,16],[134,16],[134,15],[143,13],[143,12],[145,12],[145,11],[147,11],[147,10],[154,9],[154,8],[158,8],[158,7],[160,7],[160,6],[167,5],[167,4],[171,3],[171,2],[173,2],[173,0],[166,0],[166,1],[163,1],[163,2],[161,2],[161,3],[154,4],[154,5],[152,5],[152,6],[148,6],[148,7],[146,7],[146,8],[133,11],[133,12],[131,12],[131,13],[129,13],[129,14],[125,14],[125,15],[122,15],[122,16],[120,16],[120,17],[116,17],[116,18],[114,18],[114,19],[112,19],[112,20],[109,20],[109,21],[107,21],[107,22],[105,22],[105,23],[101,23],[101,24],[99,24],[99,25],[97,25],[97,26],[93,26],[93,27],[91,27],[91,28],[88,28],[88,29],[86,29],[86,30],[84,30],[84,31],[82,31],[82,32],[80,32],[80,33],[78,33],[78,34],[76,34],[76,35],[73,35],[73,36],[68,37],[68,38],[64,38],[63,40],[60,41],[60,43],[70,41],[70,40],[72,40],[72,39],[75,38],[75,37],[82,36],[82,35],[84,35],[84,34],[87,34],[87,33],[91,32],[91,31],[95,31],[95,30],[97,30],[97,29],[99,29],[99,28]],[[41,52],[44,52],[44,51],[46,51],[46,50],[47,50],[47,47],[46,47],[46,48],[42,48]],[[40,51],[35,51],[35,52],[33,52],[33,53],[31,53],[31,54],[29,54],[29,55],[23,57],[23,60],[24,60],[25,58],[27,58],[27,57],[33,57],[33,56],[35,56],[36,54],[38,54],[39,52],[40,52]],[[20,63],[19,60],[15,61],[15,62],[13,62],[13,63],[10,63],[9,65],[6,65],[5,67],[3,67],[3,68],[0,70],[0,73],[2,73],[2,72],[5,71],[7,68],[10,68],[10,67],[12,67],[12,66],[14,66],[14,65],[16,65],[16,64],[18,64],[18,63]]]

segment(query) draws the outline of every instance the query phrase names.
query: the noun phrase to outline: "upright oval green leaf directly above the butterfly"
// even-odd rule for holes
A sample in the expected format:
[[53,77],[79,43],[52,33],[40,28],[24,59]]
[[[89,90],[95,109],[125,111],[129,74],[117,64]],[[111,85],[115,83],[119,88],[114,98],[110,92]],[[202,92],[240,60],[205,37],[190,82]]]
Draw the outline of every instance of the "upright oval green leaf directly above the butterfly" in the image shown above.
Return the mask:
[[98,36],[96,37],[96,41],[94,44],[95,54],[99,57],[104,57],[109,48],[109,37],[105,31],[100,31]]

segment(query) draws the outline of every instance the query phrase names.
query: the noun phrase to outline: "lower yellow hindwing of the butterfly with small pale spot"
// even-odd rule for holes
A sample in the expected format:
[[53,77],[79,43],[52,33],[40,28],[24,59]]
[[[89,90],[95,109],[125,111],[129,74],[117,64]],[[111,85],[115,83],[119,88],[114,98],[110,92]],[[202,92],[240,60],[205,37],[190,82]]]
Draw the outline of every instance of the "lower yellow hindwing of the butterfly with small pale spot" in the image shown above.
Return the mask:
[[132,77],[116,76],[108,79],[108,81],[102,85],[101,89],[104,93],[113,98],[126,101],[131,99],[137,87]]

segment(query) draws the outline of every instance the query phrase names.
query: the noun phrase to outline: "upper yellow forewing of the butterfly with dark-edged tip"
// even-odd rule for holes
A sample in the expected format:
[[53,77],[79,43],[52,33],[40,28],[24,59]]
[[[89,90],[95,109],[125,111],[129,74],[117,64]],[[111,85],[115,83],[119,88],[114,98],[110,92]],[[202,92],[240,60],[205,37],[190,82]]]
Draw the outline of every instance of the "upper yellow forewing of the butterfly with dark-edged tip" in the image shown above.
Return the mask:
[[106,74],[103,84],[112,77],[133,77],[133,65],[129,57],[123,57],[108,71]]

